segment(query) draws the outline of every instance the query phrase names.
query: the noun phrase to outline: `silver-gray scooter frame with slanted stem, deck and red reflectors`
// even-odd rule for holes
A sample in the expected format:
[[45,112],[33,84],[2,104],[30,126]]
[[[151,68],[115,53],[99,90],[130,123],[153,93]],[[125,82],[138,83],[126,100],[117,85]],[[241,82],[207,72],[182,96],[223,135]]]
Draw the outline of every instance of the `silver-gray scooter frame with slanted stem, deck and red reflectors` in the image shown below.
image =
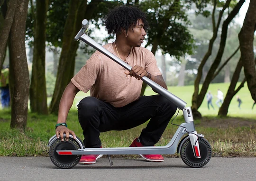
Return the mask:
[[[105,54],[110,59],[112,59],[113,61],[115,61],[116,63],[118,63],[125,69],[127,69],[128,71],[131,70],[131,68],[132,68],[131,66],[129,66],[127,63],[123,62],[117,56],[110,53],[104,47],[102,47],[101,45],[96,43],[94,40],[91,39],[91,37],[89,37],[87,35],[87,33],[88,33],[88,21],[86,19],[84,19],[82,21],[82,28],[79,31],[79,33],[75,36],[74,40],[75,41],[78,41],[78,40],[83,41],[84,43],[86,43],[86,44],[90,45],[91,47],[95,48],[96,50],[100,51],[102,54]],[[109,159],[110,159],[110,155],[112,155],[112,154],[175,154],[175,153],[181,152],[181,147],[183,144],[179,145],[180,140],[184,134],[188,133],[188,135],[189,135],[188,138],[185,138],[183,140],[183,142],[187,139],[190,139],[194,157],[201,158],[198,139],[200,137],[203,138],[204,136],[201,134],[198,134],[196,132],[191,107],[185,107],[186,102],[184,102],[180,98],[176,97],[174,94],[172,94],[168,90],[165,90],[163,87],[161,87],[154,81],[148,79],[147,77],[145,77],[145,76],[142,77],[142,80],[145,81],[154,90],[156,90],[159,94],[163,95],[167,100],[170,100],[171,102],[173,102],[174,105],[176,105],[178,109],[181,109],[183,111],[183,116],[184,116],[185,122],[182,123],[181,125],[179,125],[174,136],[172,137],[171,141],[167,145],[165,145],[165,146],[145,146],[145,147],[84,148],[82,141],[80,139],[76,139],[76,142],[80,145],[81,149],[56,150],[57,154],[59,154],[59,155],[107,154]],[[65,135],[64,135],[64,137],[65,137]],[[72,135],[70,135],[69,137],[73,138]],[[53,145],[53,143],[57,139],[60,139],[60,138],[57,138],[56,135],[53,136],[52,138],[50,138],[48,147],[51,147],[51,145]],[[208,147],[210,147],[210,145]],[[205,152],[205,153],[206,154],[210,153],[209,155],[211,156],[211,148],[209,148],[209,149],[210,149],[210,151],[208,151],[207,153]],[[186,157],[186,156],[183,156],[183,157]],[[210,160],[210,157],[208,158],[207,162],[205,162],[204,164],[208,163],[209,160]],[[189,166],[191,166],[191,165],[189,165]]]

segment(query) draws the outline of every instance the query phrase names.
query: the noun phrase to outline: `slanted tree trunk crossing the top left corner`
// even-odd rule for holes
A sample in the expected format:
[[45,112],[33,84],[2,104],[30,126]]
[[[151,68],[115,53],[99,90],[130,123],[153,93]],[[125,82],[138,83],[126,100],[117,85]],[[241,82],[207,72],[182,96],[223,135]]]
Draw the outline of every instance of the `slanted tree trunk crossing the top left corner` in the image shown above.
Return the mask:
[[[9,37],[10,28],[13,22],[14,14],[15,14],[15,8],[17,6],[17,0],[9,0],[9,3],[7,4],[7,11],[5,14],[5,19],[3,22],[3,27],[0,29],[0,65],[3,64],[4,61],[4,54],[6,52],[6,45],[7,40]],[[4,5],[2,8],[5,8]],[[2,67],[0,67],[2,69]],[[0,70],[1,70],[0,69]]]

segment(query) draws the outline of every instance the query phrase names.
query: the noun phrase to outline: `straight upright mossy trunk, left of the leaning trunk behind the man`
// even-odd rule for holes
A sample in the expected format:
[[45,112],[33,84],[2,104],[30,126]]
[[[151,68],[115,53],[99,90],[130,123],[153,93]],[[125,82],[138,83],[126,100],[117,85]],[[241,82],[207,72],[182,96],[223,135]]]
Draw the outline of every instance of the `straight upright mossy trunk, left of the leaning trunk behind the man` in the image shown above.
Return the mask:
[[30,85],[30,109],[48,114],[46,93],[46,13],[48,0],[37,0],[33,66]]

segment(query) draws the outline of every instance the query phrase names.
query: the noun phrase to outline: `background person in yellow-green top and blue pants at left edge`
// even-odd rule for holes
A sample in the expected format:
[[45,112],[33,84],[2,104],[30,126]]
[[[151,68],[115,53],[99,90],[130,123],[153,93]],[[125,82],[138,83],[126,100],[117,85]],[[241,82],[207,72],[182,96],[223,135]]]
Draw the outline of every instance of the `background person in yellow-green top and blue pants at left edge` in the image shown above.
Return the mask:
[[2,108],[10,106],[10,93],[9,93],[9,66],[3,66],[0,75],[0,90],[1,90],[1,104]]

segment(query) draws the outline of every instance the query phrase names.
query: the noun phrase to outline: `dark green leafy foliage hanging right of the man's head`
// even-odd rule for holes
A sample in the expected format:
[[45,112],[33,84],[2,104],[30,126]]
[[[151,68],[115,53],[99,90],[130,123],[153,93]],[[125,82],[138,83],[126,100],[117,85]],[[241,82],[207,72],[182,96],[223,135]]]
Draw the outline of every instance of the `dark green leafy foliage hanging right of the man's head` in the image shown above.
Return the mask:
[[189,21],[184,2],[148,0],[140,6],[146,11],[150,25],[147,45],[157,43],[165,53],[177,57],[192,54],[193,37],[187,29]]

